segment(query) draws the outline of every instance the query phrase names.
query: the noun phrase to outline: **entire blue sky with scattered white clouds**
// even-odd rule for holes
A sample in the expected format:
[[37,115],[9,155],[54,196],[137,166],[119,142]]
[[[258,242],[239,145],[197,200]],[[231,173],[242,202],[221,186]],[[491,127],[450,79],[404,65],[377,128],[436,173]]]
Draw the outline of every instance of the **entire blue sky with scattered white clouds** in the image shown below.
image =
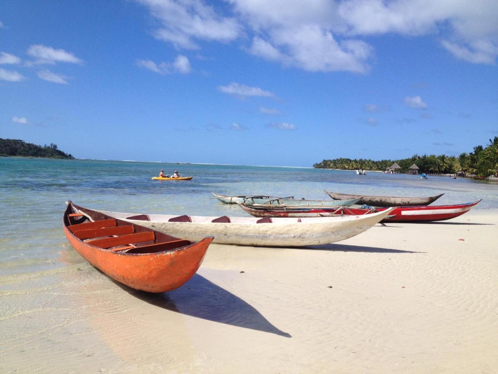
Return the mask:
[[498,1],[0,2],[0,137],[311,166],[498,135]]

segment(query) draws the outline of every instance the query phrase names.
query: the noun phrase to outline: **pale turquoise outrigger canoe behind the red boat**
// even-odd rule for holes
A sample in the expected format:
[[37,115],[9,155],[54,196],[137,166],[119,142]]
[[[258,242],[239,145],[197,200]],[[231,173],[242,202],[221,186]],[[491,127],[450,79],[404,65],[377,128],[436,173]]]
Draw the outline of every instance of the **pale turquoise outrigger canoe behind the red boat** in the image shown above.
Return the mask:
[[[350,200],[306,200],[305,198],[294,198],[294,196],[289,197],[275,197],[275,196],[227,196],[220,195],[214,192],[211,192],[215,195],[215,198],[226,203],[226,204],[245,204],[245,205],[253,205],[253,204],[265,204],[265,205],[302,205],[302,206],[351,206],[356,204],[360,198],[354,198]],[[213,197],[212,197],[213,198]]]

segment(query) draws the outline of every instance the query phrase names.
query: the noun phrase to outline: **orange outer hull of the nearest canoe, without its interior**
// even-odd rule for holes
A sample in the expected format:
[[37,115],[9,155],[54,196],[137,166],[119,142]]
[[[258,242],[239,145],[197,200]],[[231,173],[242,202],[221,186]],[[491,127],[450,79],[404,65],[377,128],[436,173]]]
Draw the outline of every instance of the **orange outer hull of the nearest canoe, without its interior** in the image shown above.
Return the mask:
[[[86,213],[92,212],[90,209],[78,208]],[[189,246],[157,253],[113,252],[78,239],[66,222],[63,223],[64,234],[85,260],[112,279],[146,292],[167,292],[182,286],[199,269],[213,240],[205,238]]]

